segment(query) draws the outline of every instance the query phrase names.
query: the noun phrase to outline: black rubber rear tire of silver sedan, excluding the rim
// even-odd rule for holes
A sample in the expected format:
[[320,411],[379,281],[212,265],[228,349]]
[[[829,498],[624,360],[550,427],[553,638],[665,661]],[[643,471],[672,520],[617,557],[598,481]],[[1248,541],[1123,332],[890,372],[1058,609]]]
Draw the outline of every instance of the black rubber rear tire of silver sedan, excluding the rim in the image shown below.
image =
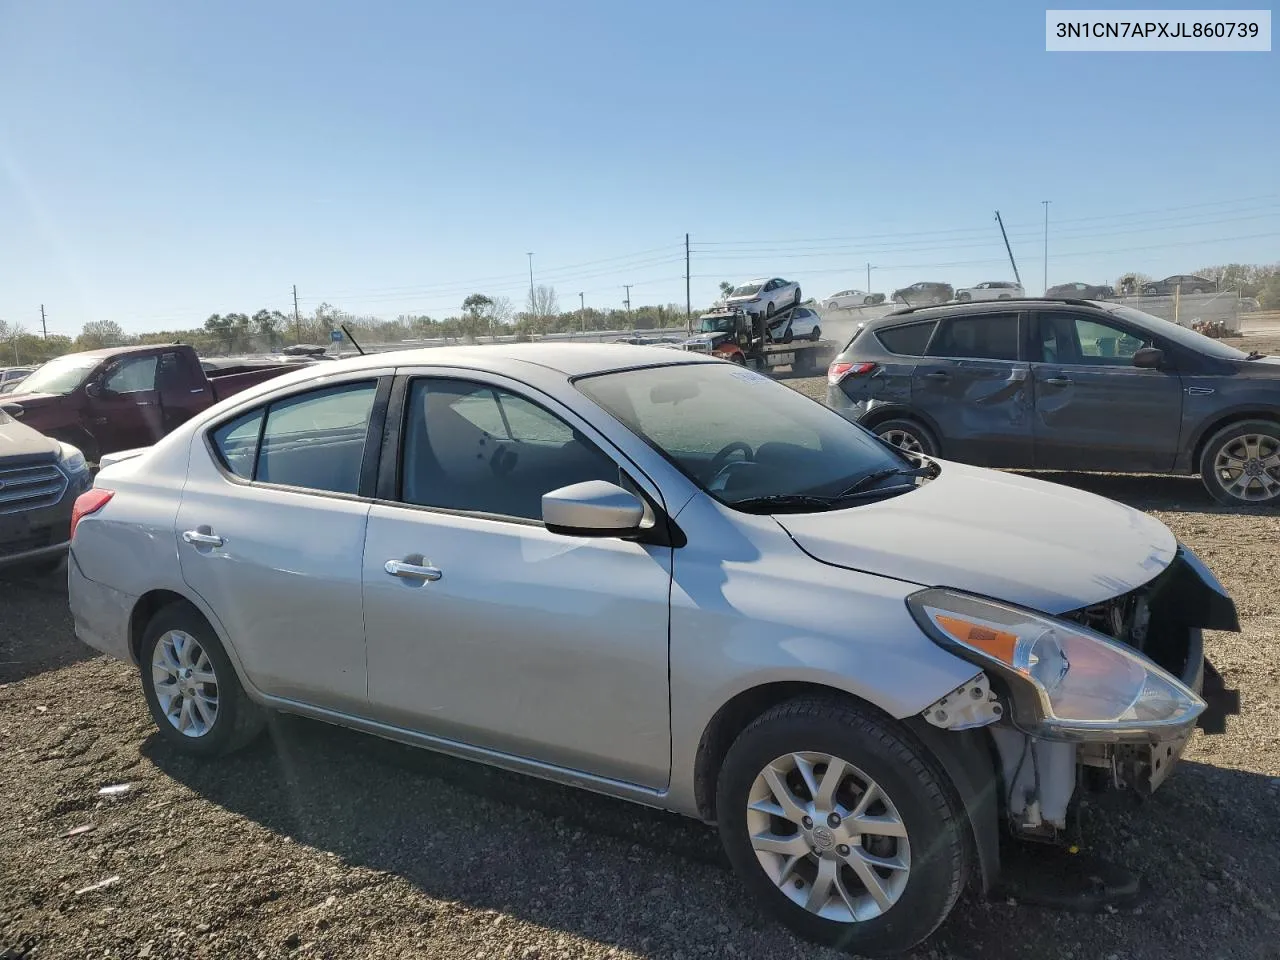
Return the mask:
[[[204,648],[216,677],[218,712],[207,732],[201,736],[179,732],[165,716],[156,695],[151,658],[161,637],[174,630],[188,634]],[[250,700],[218,635],[204,616],[189,604],[172,603],[151,618],[142,635],[138,664],[142,692],[147,700],[147,709],[151,710],[151,719],[155,721],[160,736],[179,750],[197,756],[219,756],[246,746],[262,732],[266,712]]]

